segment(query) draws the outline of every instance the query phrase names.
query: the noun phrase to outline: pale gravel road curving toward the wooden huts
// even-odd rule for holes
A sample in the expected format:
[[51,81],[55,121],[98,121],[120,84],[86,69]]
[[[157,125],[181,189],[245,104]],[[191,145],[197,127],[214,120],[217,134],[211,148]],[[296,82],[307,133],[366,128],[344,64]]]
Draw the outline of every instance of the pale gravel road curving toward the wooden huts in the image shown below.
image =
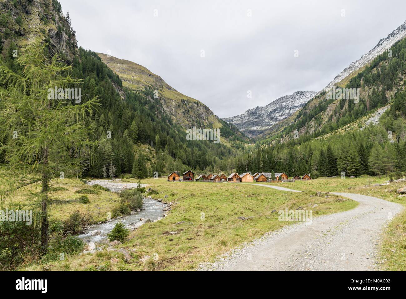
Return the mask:
[[[279,186],[259,185],[281,190]],[[291,191],[287,189],[285,191]],[[296,191],[300,192],[300,191]],[[376,197],[333,193],[359,202],[349,211],[313,217],[265,234],[242,249],[219,257],[202,270],[214,271],[372,271],[380,234],[400,204]]]

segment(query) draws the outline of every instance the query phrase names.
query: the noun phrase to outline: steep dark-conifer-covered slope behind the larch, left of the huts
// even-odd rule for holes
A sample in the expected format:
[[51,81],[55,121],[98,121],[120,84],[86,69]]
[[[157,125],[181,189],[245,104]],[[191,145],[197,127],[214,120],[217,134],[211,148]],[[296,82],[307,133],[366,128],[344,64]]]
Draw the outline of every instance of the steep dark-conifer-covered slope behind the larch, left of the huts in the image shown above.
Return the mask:
[[[48,44],[48,54],[57,54],[73,67],[71,76],[81,79],[75,86],[82,89],[81,104],[99,98],[99,106],[86,118],[89,139],[97,146],[93,155],[84,153],[89,156],[81,175],[113,178],[130,173],[143,178],[152,176],[153,171],[162,175],[173,169],[214,169],[244,147],[244,137],[222,121],[222,143],[186,140],[185,128],[174,123],[160,102],[154,101],[151,87],[136,91],[123,88],[119,76],[96,53],[77,48],[69,13],[63,16],[58,1],[2,1],[0,7],[1,59],[7,67],[21,73],[15,63],[19,48],[40,37]],[[198,125],[198,120],[190,123],[190,127]],[[0,162],[7,163],[4,152],[0,152]]]

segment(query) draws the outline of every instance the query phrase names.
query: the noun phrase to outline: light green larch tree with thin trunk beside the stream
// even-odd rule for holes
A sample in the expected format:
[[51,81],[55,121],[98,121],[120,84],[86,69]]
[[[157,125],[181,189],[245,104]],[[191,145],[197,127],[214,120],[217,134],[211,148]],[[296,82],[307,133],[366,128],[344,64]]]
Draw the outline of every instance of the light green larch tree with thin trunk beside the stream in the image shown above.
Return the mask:
[[[16,58],[21,74],[0,63],[0,151],[7,167],[2,177],[9,192],[39,182],[41,191],[32,193],[39,202],[41,252],[48,247],[48,193],[53,178],[76,175],[93,143],[87,137],[85,117],[97,98],[75,104],[66,89],[80,80],[69,75],[71,67],[57,55],[46,54],[47,44],[29,43]],[[56,87],[56,92],[54,88]],[[4,141],[4,142],[3,142]],[[73,153],[73,154],[72,154]]]

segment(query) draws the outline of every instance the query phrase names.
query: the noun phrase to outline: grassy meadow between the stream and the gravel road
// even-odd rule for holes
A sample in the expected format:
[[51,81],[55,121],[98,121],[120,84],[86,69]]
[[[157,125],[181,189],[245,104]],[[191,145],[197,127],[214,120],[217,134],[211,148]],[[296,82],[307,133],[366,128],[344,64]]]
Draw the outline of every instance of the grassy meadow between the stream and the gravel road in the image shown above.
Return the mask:
[[[125,180],[135,182],[135,180]],[[30,270],[192,270],[212,262],[219,254],[252,241],[289,222],[278,221],[272,210],[313,210],[313,216],[354,208],[357,203],[340,197],[316,196],[315,192],[290,193],[249,184],[166,182],[143,180],[174,202],[160,221],[147,223],[120,245],[134,259],[124,262],[120,254],[101,251],[93,256],[69,256],[65,261],[31,265]],[[318,206],[312,208],[314,204]],[[253,217],[246,220],[238,217]],[[170,234],[170,232],[177,232]],[[143,263],[143,256],[151,258]],[[152,258],[155,256],[155,260]],[[112,263],[111,259],[119,259]]]

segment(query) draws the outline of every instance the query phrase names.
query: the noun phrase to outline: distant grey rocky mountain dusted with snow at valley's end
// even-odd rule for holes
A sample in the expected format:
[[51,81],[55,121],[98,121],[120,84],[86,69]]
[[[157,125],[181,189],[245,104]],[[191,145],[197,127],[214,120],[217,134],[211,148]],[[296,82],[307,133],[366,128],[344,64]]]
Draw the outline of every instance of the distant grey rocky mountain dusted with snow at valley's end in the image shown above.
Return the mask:
[[241,115],[223,118],[235,125],[249,137],[255,137],[277,122],[289,117],[304,106],[316,93],[314,91],[296,91],[285,95],[264,107],[255,107]]

